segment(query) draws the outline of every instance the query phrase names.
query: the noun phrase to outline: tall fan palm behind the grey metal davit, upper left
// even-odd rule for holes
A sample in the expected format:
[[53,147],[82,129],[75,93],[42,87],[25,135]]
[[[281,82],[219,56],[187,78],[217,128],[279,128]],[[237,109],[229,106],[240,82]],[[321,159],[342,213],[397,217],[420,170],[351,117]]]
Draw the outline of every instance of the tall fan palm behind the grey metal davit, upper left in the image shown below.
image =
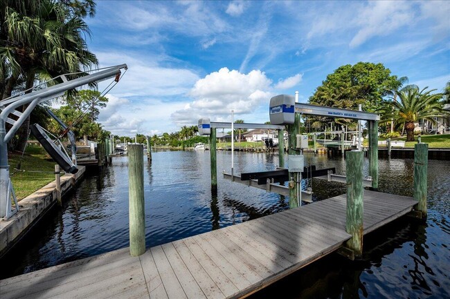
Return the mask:
[[[10,97],[19,77],[25,89],[33,88],[35,79],[49,79],[62,73],[78,73],[97,64],[96,56],[87,50],[84,36],[87,24],[73,15],[62,3],[51,0],[8,1],[1,8],[0,55],[6,59],[10,77],[3,98]],[[17,149],[26,146],[29,118],[22,125]]]

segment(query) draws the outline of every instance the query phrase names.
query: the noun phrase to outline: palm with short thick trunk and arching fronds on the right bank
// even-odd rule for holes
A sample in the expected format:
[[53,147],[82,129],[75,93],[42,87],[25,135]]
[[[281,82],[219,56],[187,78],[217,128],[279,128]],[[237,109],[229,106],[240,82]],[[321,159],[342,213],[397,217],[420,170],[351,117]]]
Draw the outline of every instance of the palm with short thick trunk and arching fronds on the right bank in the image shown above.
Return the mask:
[[414,123],[419,119],[435,122],[434,117],[442,117],[448,113],[443,110],[442,93],[433,94],[435,89],[426,90],[426,88],[420,90],[415,85],[405,86],[401,90],[395,91],[398,102],[384,102],[380,109],[381,122],[390,122],[391,119],[394,119],[398,124],[404,124],[406,141],[414,141]]

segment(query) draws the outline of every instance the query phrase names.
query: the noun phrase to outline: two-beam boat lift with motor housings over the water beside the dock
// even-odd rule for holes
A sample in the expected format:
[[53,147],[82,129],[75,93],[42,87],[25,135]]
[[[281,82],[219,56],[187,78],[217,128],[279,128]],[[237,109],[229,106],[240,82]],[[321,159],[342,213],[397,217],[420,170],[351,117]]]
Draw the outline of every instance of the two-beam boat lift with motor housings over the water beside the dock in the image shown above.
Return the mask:
[[[241,176],[233,173],[233,144],[232,144],[232,165],[231,174],[223,173],[224,178],[232,182],[240,182],[248,186],[255,186],[260,189],[265,189],[268,192],[278,193],[280,195],[289,195],[289,197],[296,197],[293,202],[300,206],[302,195],[305,201],[310,202],[312,197],[312,190],[301,191],[301,177],[312,178],[316,177],[328,182],[346,182],[345,175],[336,175],[335,168],[327,168],[316,170],[313,166],[304,166],[303,155],[297,155],[300,151],[303,153],[303,148],[307,148],[307,137],[303,135],[296,135],[294,138],[295,144],[289,145],[289,152],[294,152],[294,155],[289,155],[289,169],[282,168],[284,166],[284,146],[282,146],[285,125],[299,126],[300,117],[296,117],[295,113],[320,115],[327,117],[343,117],[350,119],[358,119],[359,121],[366,120],[369,122],[369,173],[370,177],[363,179],[363,185],[377,189],[378,187],[378,124],[379,115],[375,113],[366,113],[361,110],[349,110],[341,108],[332,108],[327,106],[316,106],[310,104],[296,103],[294,97],[291,95],[278,95],[272,97],[270,100],[269,114],[271,118],[271,125],[267,124],[233,124],[210,122],[210,119],[199,119],[199,133],[201,135],[210,135],[210,151],[211,155],[211,188],[217,191],[217,164],[216,164],[216,148],[215,148],[215,129],[216,128],[276,128],[280,130],[278,133],[280,150],[280,168],[276,171],[263,171],[258,173],[242,173]],[[233,115],[232,115],[233,119]],[[252,126],[253,125],[253,126]],[[359,130],[360,132],[360,130]],[[339,132],[342,135],[343,132]],[[291,129],[289,128],[289,134]],[[281,135],[281,138],[280,138]],[[232,137],[233,139],[233,137]],[[305,142],[305,143],[303,143]],[[232,140],[233,143],[233,140]],[[344,140],[341,140],[344,145]],[[280,185],[289,182],[288,186]],[[291,205],[291,200],[289,201]],[[295,204],[294,204],[295,205]],[[292,207],[292,206],[291,206]]]

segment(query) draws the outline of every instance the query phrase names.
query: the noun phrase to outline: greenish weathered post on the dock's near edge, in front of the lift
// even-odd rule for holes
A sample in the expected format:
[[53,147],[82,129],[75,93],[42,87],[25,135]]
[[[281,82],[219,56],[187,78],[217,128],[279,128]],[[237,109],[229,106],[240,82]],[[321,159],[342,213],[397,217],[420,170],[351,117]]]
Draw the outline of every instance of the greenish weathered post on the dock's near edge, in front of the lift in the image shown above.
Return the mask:
[[348,249],[355,256],[363,253],[363,152],[349,151],[346,157],[347,218],[345,231],[352,235]]

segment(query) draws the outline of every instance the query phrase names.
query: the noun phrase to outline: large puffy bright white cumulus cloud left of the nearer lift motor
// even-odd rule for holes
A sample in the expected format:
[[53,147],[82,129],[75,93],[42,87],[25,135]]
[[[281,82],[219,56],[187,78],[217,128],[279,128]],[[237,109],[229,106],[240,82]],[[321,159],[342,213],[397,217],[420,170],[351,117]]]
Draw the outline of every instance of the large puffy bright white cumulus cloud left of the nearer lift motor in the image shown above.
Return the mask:
[[272,81],[260,70],[243,74],[237,70],[221,68],[217,72],[199,79],[189,95],[195,100],[186,104],[171,117],[179,126],[196,124],[200,117],[219,119],[235,114],[251,113],[264,102],[268,102]]

